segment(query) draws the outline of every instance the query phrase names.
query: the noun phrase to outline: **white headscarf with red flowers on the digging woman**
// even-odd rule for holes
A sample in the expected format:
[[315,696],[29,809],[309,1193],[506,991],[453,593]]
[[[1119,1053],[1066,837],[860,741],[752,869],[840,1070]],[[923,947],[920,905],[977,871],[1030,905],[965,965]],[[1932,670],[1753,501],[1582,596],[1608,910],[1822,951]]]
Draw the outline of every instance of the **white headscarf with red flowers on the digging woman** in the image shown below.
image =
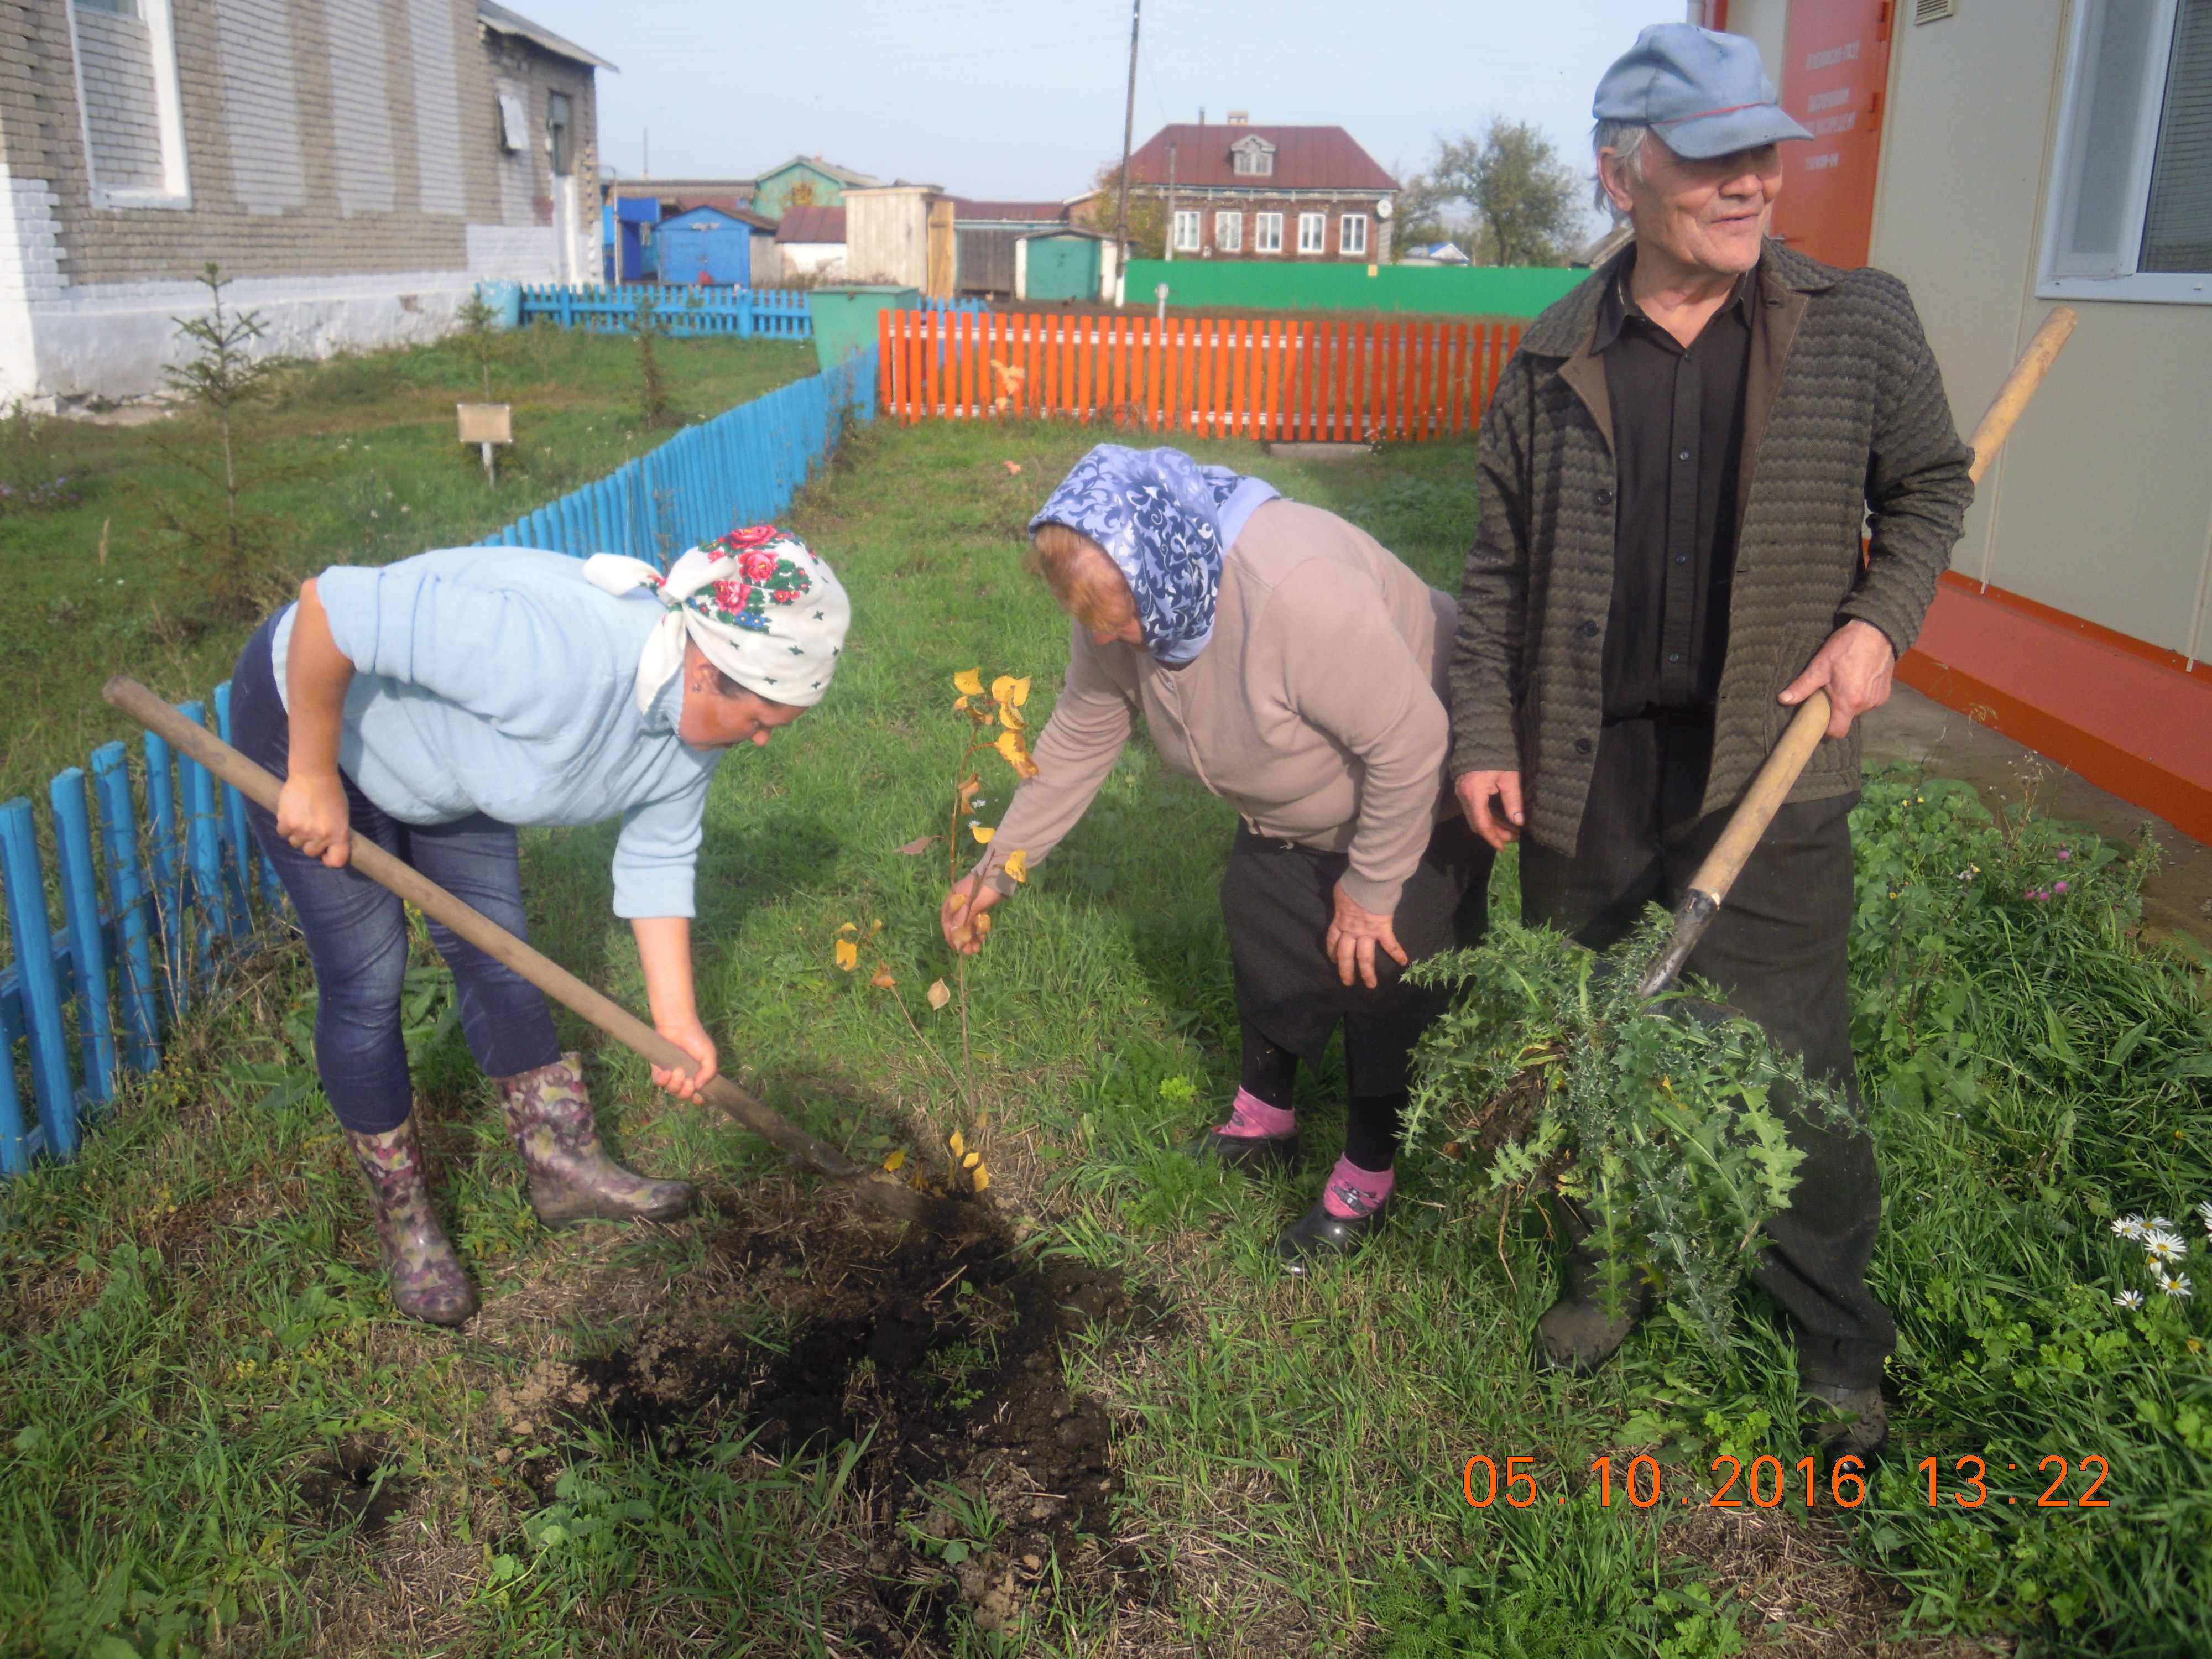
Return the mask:
[[648,588],[668,608],[637,659],[639,714],[684,670],[686,639],[745,690],[814,708],[852,624],[852,604],[830,566],[774,524],[695,546],[666,577],[619,553],[593,553],[584,577],[604,593]]

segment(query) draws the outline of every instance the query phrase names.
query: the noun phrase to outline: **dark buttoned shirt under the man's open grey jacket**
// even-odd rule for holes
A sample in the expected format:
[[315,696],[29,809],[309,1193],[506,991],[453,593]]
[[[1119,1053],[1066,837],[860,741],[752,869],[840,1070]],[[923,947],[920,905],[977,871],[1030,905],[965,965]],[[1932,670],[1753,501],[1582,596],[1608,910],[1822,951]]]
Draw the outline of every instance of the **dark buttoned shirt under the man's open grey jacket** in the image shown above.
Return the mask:
[[1739,281],[1697,341],[1652,323],[1624,261],[1597,310],[1590,354],[1613,403],[1613,604],[1604,719],[1710,712],[1728,657],[1736,568],[1743,392],[1759,307]]

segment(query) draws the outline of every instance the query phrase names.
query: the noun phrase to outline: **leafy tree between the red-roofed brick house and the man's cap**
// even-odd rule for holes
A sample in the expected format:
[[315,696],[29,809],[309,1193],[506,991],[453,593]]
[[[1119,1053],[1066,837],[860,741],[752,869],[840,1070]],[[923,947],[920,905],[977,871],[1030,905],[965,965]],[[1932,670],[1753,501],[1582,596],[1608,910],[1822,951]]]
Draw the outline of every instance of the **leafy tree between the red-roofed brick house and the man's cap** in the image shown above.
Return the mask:
[[1493,115],[1480,139],[1440,137],[1429,170],[1405,181],[1398,246],[1453,241],[1478,265],[1564,265],[1584,237],[1582,195],[1533,122]]

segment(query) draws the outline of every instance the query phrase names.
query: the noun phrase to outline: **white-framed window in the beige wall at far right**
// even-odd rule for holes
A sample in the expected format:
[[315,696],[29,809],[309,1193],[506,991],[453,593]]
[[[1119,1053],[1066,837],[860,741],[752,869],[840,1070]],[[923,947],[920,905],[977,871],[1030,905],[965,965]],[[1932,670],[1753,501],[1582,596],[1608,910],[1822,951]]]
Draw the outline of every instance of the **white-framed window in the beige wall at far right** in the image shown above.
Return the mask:
[[2046,299],[2212,303],[2212,0],[2075,11]]

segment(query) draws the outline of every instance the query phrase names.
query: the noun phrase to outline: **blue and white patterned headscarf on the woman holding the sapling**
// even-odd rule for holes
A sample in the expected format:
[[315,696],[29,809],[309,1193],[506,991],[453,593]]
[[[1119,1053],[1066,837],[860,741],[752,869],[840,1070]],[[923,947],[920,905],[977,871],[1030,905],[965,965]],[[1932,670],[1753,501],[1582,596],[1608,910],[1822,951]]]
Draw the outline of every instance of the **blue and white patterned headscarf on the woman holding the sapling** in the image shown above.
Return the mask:
[[1144,648],[1181,668],[1214,637],[1221,553],[1274,484],[1201,467],[1181,449],[1099,445],[1060,480],[1033,520],[1082,531],[1115,562],[1137,597]]

